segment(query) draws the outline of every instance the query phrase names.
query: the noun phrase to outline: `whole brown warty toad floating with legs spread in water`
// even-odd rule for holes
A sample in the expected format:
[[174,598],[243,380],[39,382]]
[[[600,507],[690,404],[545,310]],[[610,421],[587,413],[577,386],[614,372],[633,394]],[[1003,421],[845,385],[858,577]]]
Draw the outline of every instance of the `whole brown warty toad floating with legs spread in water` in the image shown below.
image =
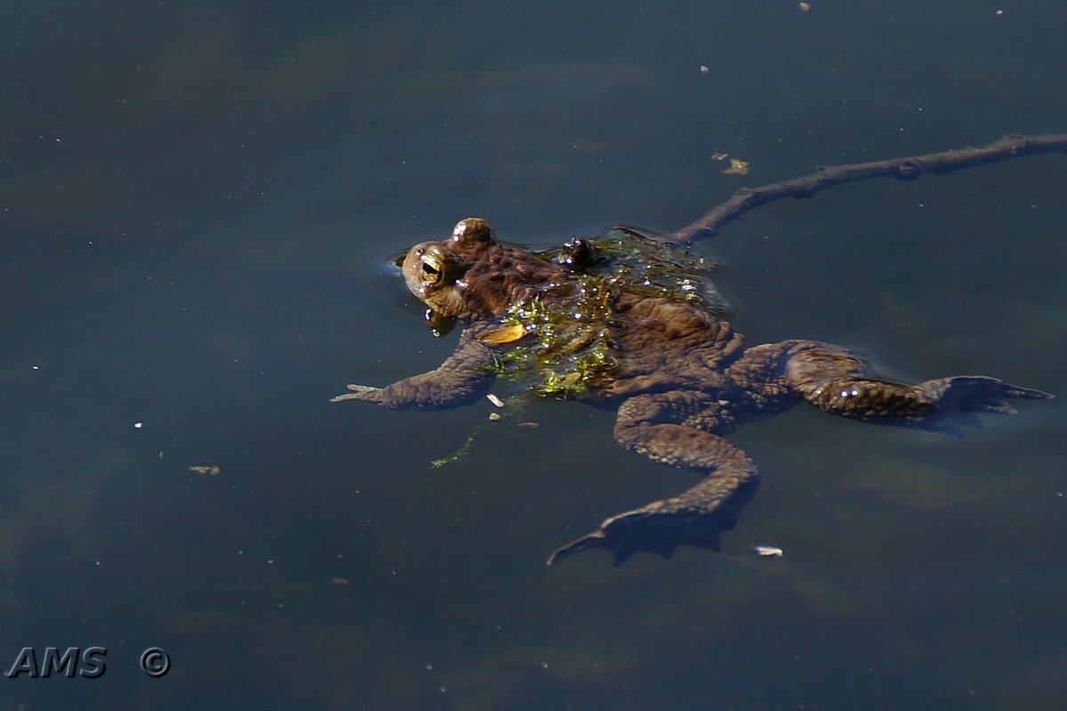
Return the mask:
[[[718,550],[719,534],[734,527],[760,481],[752,459],[723,436],[801,401],[961,436],[961,425],[978,424],[971,413],[1012,414],[1005,399],[1052,397],[985,376],[872,379],[857,356],[818,341],[746,349],[699,304],[564,269],[497,242],[479,217],[460,221],[449,239],[416,244],[403,274],[430,309],[464,323],[456,351],[428,373],[384,388],[350,385],[333,402],[458,407],[487,394],[501,363],[517,363],[543,393],[617,409],[615,438],[626,449],[703,474],[678,496],[611,516],[554,552],[550,565],[587,548],[608,549],[616,565],[640,550],[664,558],[680,545]],[[559,313],[567,318],[552,318]]]

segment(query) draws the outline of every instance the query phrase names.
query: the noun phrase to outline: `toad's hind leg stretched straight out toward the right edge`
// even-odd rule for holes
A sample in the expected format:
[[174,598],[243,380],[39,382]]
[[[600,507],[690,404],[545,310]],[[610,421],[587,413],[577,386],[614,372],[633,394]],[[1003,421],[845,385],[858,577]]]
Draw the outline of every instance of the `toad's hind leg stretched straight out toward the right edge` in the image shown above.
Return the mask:
[[972,413],[1012,415],[1015,409],[1005,400],[1052,397],[984,375],[940,377],[918,385],[871,379],[863,376],[854,354],[818,341],[760,345],[750,349],[746,357],[761,349],[781,363],[787,390],[827,413],[871,422],[962,436],[961,425],[982,426]]

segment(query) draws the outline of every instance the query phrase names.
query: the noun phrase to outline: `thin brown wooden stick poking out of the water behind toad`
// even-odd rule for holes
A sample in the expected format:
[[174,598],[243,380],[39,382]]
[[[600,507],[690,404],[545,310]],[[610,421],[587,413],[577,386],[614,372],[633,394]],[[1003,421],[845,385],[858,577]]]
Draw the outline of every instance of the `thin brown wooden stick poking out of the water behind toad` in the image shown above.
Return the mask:
[[783,197],[810,197],[825,188],[840,185],[867,178],[892,177],[899,180],[914,180],[926,173],[952,173],[972,165],[996,163],[997,161],[1031,156],[1034,153],[1067,153],[1067,134],[1053,135],[1006,135],[1000,141],[980,148],[945,150],[926,156],[892,158],[871,163],[831,165],[811,175],[774,182],[761,188],[742,188],[730,199],[720,203],[703,217],[667,238],[671,242],[692,243],[714,237],[719,228],[731,220],[766,203]]

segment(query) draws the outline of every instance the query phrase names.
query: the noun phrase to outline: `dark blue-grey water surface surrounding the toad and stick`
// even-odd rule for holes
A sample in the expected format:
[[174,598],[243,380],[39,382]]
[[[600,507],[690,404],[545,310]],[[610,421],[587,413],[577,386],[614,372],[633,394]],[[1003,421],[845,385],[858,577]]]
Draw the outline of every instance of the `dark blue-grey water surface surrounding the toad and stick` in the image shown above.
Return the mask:
[[107,651],[0,678],[0,707],[1067,708],[1063,156],[703,245],[752,342],[1061,395],[959,440],[751,424],[764,485],[722,554],[543,565],[691,481],[608,414],[539,402],[431,469],[491,405],[327,403],[450,351],[388,260],[465,215],[669,230],[819,164],[1067,131],[1062,2],[812,5],[6,7],[0,665]]

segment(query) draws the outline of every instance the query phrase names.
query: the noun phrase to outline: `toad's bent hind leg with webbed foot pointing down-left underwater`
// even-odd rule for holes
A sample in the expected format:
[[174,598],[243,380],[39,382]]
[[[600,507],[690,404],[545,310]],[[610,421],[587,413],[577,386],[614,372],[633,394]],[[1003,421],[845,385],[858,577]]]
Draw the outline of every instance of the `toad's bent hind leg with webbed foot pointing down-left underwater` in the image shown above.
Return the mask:
[[[628,450],[651,459],[705,473],[679,496],[617,514],[595,531],[563,546],[548,565],[588,548],[611,551],[618,567],[639,550],[670,558],[681,545],[719,549],[719,534],[737,522],[755,495],[760,472],[744,451],[718,435],[665,419],[690,408],[684,393],[639,395],[619,408],[615,436]],[[707,418],[705,416],[705,423]]]

